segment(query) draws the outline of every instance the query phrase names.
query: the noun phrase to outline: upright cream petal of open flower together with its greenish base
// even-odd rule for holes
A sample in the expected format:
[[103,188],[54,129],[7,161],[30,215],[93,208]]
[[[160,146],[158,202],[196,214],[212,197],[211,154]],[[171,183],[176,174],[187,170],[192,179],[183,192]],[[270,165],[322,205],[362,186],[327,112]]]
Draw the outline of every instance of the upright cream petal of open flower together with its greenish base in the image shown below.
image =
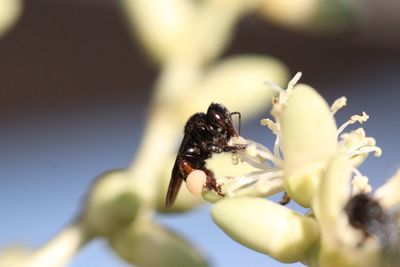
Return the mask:
[[300,84],[291,92],[280,123],[286,190],[309,207],[320,168],[337,149],[335,120],[325,100],[313,88]]

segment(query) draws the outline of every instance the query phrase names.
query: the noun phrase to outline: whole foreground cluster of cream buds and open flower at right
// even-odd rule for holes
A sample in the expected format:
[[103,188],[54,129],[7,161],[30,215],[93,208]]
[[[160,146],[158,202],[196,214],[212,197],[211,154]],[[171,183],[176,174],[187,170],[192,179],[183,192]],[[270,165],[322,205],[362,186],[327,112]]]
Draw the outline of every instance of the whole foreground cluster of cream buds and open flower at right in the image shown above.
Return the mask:
[[[261,124],[276,136],[272,150],[243,138],[231,140],[247,144],[235,162],[255,170],[217,178],[224,197],[203,189],[203,197],[215,203],[214,221],[237,242],[281,262],[400,266],[400,175],[372,194],[357,167],[369,153],[379,157],[381,149],[362,128],[344,132],[368,115],[351,116],[337,127],[334,114],[346,98],[329,106],[310,86],[296,85],[300,76],[286,90],[270,85],[278,92],[274,119]],[[308,211],[300,214],[265,198],[282,191]]]

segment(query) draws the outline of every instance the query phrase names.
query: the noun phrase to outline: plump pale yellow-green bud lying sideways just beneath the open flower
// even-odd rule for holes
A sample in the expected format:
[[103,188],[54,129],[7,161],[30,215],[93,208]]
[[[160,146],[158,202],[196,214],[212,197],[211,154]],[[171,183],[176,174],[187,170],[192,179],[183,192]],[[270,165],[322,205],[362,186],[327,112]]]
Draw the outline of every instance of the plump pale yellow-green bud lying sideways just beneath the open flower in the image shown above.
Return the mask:
[[313,218],[266,199],[224,199],[214,205],[211,213],[231,238],[281,262],[304,259],[318,237]]

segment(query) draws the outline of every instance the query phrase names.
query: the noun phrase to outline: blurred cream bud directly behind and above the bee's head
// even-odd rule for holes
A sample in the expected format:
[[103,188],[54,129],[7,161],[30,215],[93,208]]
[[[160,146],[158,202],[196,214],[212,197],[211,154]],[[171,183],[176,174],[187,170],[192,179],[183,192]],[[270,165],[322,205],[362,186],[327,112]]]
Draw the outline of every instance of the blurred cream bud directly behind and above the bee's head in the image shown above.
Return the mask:
[[210,68],[203,82],[187,92],[183,99],[182,116],[205,111],[211,102],[222,103],[231,112],[239,111],[242,119],[250,118],[268,108],[273,91],[263,82],[284,84],[288,77],[285,65],[265,56],[235,56]]

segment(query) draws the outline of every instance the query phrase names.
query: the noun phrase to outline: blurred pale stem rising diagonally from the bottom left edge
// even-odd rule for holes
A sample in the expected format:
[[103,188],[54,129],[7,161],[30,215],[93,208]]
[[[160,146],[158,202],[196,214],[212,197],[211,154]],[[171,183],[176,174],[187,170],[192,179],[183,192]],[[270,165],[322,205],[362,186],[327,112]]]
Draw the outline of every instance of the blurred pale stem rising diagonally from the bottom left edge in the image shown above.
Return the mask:
[[91,236],[80,220],[63,229],[57,236],[22,264],[23,267],[62,267],[66,266],[79,249],[91,240]]

